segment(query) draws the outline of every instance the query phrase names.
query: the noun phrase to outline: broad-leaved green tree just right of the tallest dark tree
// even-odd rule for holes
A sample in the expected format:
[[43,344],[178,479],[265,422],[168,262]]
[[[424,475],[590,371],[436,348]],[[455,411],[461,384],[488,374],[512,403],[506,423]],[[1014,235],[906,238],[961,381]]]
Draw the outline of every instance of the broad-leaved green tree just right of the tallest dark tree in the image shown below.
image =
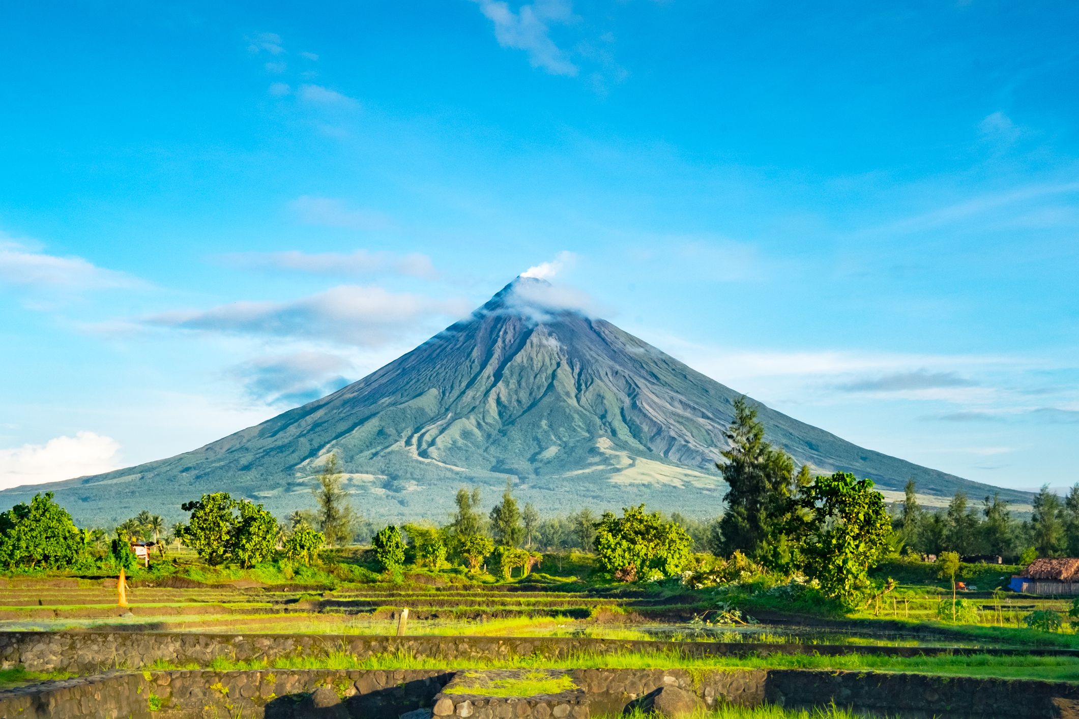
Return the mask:
[[869,570],[888,547],[891,517],[872,480],[848,472],[818,476],[798,495],[807,517],[793,525],[803,571],[847,606],[869,587]]

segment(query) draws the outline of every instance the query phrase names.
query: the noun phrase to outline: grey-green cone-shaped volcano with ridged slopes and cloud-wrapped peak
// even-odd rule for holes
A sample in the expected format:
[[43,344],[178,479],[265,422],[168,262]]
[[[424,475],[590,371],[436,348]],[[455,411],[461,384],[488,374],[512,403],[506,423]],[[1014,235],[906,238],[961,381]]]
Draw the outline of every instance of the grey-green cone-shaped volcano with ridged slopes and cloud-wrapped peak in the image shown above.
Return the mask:
[[[555,309],[549,286],[518,278],[466,320],[328,397],[168,459],[46,485],[76,518],[107,523],[228,490],[284,514],[311,504],[336,452],[354,504],[378,520],[445,518],[461,485],[493,502],[506,478],[543,512],[647,502],[715,514],[714,462],[739,392],[614,324]],[[995,490],[863,450],[757,404],[767,439],[819,471],[974,498]],[[41,487],[0,493],[0,506]],[[1024,493],[1002,497],[1026,503]]]

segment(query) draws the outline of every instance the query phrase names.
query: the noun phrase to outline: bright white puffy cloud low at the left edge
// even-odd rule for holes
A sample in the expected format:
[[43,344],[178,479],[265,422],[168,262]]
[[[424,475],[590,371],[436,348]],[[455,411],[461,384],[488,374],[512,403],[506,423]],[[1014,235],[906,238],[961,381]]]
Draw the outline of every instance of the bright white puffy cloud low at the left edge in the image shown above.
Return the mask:
[[95,432],[0,450],[0,489],[98,474],[121,467],[120,444]]

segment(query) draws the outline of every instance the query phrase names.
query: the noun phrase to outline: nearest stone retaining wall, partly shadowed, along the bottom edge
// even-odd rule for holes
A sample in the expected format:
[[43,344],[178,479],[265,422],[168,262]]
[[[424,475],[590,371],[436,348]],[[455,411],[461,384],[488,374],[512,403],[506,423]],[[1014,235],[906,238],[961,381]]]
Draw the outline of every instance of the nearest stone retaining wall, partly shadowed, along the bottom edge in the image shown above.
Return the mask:
[[[0,717],[44,719],[397,719],[421,707],[435,719],[595,719],[647,708],[667,688],[714,708],[836,704],[888,717],[1079,717],[1079,686],[801,669],[577,669],[561,694],[494,697],[447,693],[441,670],[127,672],[0,692]],[[469,685],[470,686],[470,685]],[[692,699],[692,696],[691,696]]]

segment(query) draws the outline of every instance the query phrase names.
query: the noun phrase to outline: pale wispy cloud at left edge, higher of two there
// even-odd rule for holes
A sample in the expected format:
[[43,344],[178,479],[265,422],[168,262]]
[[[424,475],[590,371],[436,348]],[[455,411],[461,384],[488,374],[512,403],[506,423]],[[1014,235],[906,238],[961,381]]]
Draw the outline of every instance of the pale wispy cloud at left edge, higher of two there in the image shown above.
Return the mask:
[[80,257],[49,254],[37,243],[16,240],[0,232],[0,285],[78,291],[142,287],[146,284]]

